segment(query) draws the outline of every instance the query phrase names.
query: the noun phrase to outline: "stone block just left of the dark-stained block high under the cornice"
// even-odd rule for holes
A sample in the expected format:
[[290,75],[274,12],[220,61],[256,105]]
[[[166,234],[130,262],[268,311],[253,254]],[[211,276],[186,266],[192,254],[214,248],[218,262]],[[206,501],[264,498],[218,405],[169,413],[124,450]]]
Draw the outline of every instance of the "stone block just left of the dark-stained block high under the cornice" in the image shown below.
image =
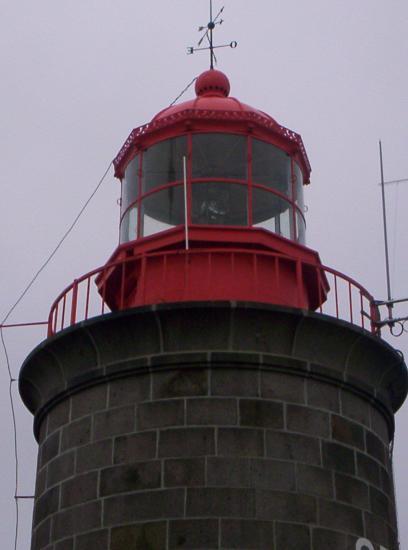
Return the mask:
[[138,374],[113,380],[109,384],[108,406],[123,407],[147,401],[150,395],[150,374]]

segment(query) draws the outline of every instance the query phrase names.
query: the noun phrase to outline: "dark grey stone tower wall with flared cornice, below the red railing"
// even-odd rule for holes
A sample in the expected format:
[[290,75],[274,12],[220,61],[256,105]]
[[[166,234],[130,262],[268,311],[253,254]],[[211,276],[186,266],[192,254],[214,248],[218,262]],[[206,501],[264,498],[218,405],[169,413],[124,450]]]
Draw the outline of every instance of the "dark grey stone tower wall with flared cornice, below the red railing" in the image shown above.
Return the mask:
[[387,344],[298,310],[195,304],[70,329],[21,372],[40,444],[32,550],[395,550],[406,385]]

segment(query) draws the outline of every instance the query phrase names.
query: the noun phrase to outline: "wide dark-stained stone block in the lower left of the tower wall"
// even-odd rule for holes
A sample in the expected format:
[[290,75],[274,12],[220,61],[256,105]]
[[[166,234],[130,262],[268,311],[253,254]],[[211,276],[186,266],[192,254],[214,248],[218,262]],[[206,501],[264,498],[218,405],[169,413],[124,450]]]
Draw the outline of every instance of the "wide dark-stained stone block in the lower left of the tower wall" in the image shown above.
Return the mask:
[[161,485],[161,463],[134,462],[101,471],[100,496],[156,489]]

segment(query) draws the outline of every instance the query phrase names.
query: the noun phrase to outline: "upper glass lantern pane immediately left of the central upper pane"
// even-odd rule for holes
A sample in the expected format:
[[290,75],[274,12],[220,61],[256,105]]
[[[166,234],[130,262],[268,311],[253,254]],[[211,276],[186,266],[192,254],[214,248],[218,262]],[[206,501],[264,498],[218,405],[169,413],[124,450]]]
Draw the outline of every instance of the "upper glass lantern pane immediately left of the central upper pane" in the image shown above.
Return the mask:
[[183,181],[183,157],[187,157],[187,137],[180,136],[153,145],[143,153],[142,192]]

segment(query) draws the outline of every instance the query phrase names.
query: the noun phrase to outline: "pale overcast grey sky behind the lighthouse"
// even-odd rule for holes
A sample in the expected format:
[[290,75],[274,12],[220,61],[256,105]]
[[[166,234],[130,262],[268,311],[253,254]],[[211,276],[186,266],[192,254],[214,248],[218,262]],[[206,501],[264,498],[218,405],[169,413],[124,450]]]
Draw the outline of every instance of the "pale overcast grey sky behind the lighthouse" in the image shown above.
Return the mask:
[[[219,55],[231,94],[298,131],[313,168],[307,243],[322,261],[385,297],[378,139],[387,180],[408,178],[406,0],[215,0],[226,6]],[[208,66],[187,56],[207,0],[0,0],[0,317],[73,220],[130,130],[149,121]],[[191,97],[192,92],[185,96]],[[408,296],[408,183],[389,186],[394,295]],[[16,309],[46,319],[59,292],[117,244],[119,184],[109,177],[70,239]],[[408,305],[404,311],[408,314]],[[13,374],[45,336],[7,329]],[[408,357],[408,335],[384,335]],[[0,547],[14,534],[13,436],[1,361]],[[14,388],[16,390],[16,388]],[[32,494],[32,419],[17,401],[20,494]],[[408,406],[397,416],[395,476],[408,546]],[[31,504],[21,504],[28,550]]]

